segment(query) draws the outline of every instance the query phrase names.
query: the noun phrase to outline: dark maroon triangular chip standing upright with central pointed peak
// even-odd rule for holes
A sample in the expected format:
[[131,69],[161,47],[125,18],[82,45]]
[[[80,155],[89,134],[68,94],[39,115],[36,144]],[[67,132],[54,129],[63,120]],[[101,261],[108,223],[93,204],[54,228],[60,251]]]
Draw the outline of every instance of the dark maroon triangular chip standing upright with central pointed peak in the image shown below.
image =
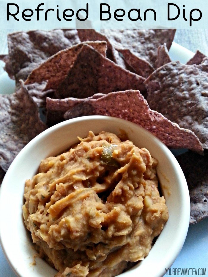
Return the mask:
[[89,45],[83,45],[56,98],[86,98],[96,93],[138,89],[145,91],[144,78],[123,69]]

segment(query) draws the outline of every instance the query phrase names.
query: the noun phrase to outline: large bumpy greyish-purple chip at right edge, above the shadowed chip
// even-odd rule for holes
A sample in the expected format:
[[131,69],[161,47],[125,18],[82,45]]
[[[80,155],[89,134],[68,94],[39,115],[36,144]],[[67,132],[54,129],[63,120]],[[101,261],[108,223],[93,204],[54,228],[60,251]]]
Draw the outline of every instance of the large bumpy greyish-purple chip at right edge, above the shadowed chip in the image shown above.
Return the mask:
[[204,65],[171,62],[155,70],[146,80],[151,109],[190,129],[208,148],[208,74]]

